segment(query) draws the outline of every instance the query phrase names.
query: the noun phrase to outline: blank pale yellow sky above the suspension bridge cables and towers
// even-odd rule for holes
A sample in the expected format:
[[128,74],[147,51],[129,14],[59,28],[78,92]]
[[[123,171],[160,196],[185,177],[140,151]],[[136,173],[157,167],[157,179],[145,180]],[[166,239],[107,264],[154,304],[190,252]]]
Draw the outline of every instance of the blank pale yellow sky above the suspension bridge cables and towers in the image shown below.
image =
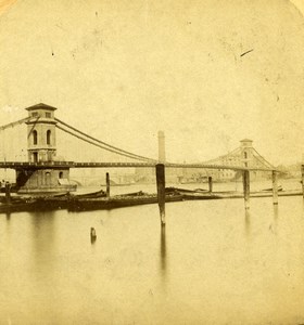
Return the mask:
[[302,0],[12,2],[0,16],[1,125],[43,102],[139,155],[156,158],[164,130],[170,161],[207,160],[243,138],[274,165],[300,161]]

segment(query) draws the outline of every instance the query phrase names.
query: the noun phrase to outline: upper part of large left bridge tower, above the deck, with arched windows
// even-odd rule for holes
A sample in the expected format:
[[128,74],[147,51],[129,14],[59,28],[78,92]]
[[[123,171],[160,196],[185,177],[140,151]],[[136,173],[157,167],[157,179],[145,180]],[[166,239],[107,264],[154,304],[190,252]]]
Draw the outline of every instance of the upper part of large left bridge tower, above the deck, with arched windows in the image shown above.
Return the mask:
[[[25,108],[31,119],[27,121],[28,161],[52,161],[56,154],[55,147],[55,107],[37,104]],[[36,118],[36,119],[35,119]]]

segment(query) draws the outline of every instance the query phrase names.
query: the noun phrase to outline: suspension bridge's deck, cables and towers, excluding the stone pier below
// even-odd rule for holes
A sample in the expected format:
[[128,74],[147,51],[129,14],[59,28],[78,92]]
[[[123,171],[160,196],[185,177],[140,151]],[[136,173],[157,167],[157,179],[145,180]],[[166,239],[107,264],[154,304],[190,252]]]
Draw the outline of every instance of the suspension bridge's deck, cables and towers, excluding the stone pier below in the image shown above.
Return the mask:
[[[69,123],[55,118],[53,112],[55,107],[37,104],[26,108],[29,116],[17,121],[0,127],[1,132],[26,123],[27,128],[27,161],[0,161],[0,168],[148,168],[155,167],[157,162],[162,162],[166,168],[198,168],[198,169],[229,169],[236,171],[274,171],[276,168],[269,164],[258,152],[252,147],[251,140],[242,140],[241,146],[235,151],[223,155],[215,159],[195,162],[195,164],[177,164],[165,161],[164,157],[157,158],[145,157],[125,151],[117,146],[111,145],[104,141],[91,136],[84,131],[71,126]],[[121,157],[128,158],[131,161],[98,161],[98,162],[80,162],[80,161],[60,161],[56,159],[55,129],[86,142],[91,146],[98,147],[105,152],[115,154]],[[161,145],[161,143],[159,143]],[[164,144],[163,144],[164,145]]]

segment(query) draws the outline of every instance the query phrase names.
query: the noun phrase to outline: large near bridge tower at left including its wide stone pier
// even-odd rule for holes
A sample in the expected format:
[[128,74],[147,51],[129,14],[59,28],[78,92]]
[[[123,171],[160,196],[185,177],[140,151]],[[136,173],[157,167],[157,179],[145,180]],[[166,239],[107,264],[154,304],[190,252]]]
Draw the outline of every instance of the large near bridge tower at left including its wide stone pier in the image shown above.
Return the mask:
[[69,167],[56,161],[54,118],[55,107],[37,104],[25,108],[30,119],[27,123],[28,166],[16,168],[18,193],[55,193],[75,191],[69,183]]

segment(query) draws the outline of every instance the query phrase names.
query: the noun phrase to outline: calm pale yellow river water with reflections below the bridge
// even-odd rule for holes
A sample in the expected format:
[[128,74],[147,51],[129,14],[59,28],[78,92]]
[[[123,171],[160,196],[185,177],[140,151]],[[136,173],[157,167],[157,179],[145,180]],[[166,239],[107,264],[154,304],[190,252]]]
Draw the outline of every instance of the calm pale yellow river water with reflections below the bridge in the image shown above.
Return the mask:
[[304,323],[302,197],[170,203],[166,221],[157,205],[0,214],[0,324]]

